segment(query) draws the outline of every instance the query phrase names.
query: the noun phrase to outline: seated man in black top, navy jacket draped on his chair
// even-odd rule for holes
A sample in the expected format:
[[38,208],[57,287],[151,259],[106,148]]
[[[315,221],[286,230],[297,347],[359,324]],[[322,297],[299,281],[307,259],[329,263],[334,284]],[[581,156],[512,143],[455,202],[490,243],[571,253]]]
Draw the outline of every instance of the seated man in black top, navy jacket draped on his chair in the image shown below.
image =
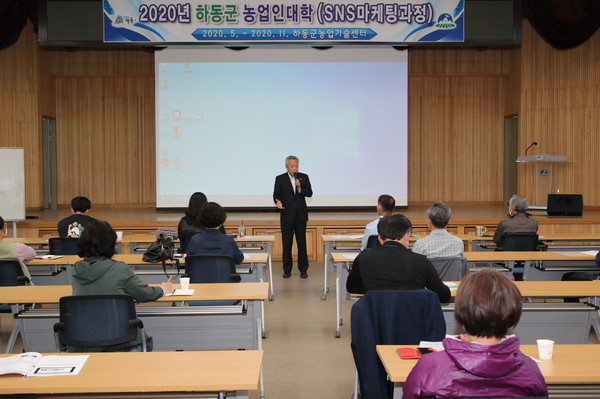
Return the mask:
[[410,220],[402,214],[379,221],[377,231],[382,245],[356,257],[346,282],[348,292],[426,288],[435,292],[440,302],[450,300],[450,289],[429,259],[408,249],[411,228]]

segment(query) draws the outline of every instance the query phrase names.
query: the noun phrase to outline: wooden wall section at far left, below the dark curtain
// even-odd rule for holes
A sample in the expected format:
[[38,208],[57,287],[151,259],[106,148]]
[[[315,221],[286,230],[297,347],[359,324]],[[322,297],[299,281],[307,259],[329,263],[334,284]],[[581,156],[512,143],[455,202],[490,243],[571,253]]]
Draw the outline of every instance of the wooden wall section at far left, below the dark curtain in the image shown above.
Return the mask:
[[43,205],[36,40],[28,24],[17,43],[0,50],[0,147],[24,149],[26,207]]

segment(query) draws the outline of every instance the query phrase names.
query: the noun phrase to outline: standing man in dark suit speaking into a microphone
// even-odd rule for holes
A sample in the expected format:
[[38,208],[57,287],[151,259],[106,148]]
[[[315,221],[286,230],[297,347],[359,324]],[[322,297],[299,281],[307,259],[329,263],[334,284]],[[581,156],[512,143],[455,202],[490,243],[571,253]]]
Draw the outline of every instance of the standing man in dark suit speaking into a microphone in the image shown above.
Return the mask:
[[308,210],[306,197],[312,197],[312,187],[307,174],[298,173],[298,157],[285,159],[287,172],[275,178],[273,201],[279,209],[281,240],[283,242],[283,278],[292,275],[292,243],[296,235],[298,246],[298,270],[301,278],[308,277],[306,253],[306,221]]

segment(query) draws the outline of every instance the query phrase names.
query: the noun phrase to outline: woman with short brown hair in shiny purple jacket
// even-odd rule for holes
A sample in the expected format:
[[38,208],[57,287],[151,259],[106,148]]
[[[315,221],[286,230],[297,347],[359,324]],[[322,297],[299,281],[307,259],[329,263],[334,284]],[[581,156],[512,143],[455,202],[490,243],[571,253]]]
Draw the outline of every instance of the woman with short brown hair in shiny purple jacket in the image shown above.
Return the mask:
[[445,350],[423,356],[403,387],[404,399],[548,396],[540,369],[521,353],[509,328],[521,318],[521,293],[492,269],[467,275],[454,318],[466,334],[444,339]]

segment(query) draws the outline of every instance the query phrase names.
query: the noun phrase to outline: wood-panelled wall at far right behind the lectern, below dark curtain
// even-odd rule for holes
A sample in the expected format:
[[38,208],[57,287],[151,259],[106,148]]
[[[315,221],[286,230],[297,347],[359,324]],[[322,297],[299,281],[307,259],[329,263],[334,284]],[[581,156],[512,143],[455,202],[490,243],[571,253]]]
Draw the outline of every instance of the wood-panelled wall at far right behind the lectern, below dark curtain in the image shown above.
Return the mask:
[[[557,50],[523,24],[519,147],[564,155],[554,189],[582,193],[584,205],[600,205],[600,34],[570,50]],[[519,190],[533,195],[532,167],[519,168]]]

